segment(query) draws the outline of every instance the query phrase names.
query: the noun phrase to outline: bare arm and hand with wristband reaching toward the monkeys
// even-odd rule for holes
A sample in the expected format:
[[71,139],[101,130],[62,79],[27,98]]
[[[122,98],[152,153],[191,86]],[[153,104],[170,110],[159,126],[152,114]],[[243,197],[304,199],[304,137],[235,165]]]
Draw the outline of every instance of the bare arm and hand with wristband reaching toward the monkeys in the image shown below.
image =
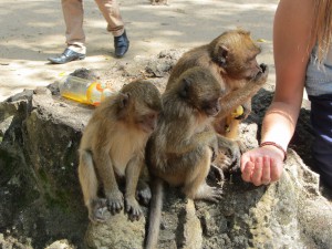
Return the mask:
[[[276,12],[276,93],[263,118],[261,143],[274,142],[284,151],[294,133],[307,65],[315,42],[311,38],[313,10],[312,0],[281,0]],[[256,186],[280,179],[282,169],[283,153],[271,145],[251,149],[241,157],[242,179]]]

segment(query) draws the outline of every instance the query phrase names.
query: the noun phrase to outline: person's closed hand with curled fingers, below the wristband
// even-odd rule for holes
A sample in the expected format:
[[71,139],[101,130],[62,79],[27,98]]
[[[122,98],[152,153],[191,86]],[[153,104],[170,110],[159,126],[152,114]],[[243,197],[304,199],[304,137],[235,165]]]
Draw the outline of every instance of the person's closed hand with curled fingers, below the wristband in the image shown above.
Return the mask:
[[255,186],[280,179],[282,168],[283,154],[271,145],[253,148],[241,156],[242,179]]

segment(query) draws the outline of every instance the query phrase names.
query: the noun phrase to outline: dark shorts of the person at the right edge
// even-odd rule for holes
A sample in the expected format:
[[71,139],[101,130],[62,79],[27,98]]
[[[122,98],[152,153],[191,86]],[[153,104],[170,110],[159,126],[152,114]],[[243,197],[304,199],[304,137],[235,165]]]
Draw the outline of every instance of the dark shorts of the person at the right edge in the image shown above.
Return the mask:
[[313,159],[321,179],[332,188],[332,94],[309,96],[314,131]]

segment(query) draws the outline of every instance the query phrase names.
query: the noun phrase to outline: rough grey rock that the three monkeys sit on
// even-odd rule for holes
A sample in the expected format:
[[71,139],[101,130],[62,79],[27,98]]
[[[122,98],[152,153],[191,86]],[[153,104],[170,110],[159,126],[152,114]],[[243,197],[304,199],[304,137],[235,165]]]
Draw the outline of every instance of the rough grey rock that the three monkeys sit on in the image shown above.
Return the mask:
[[[183,51],[164,51],[103,72],[115,89],[145,77],[164,90]],[[271,82],[253,98],[241,139],[257,145]],[[89,224],[76,167],[82,131],[94,107],[59,96],[58,83],[24,91],[0,103],[0,248],[143,248],[145,217],[108,215]],[[312,131],[303,105],[284,174],[255,187],[227,175],[219,204],[193,203],[166,188],[159,248],[331,248],[331,197],[322,196],[311,165]],[[214,179],[209,179],[214,184]]]

